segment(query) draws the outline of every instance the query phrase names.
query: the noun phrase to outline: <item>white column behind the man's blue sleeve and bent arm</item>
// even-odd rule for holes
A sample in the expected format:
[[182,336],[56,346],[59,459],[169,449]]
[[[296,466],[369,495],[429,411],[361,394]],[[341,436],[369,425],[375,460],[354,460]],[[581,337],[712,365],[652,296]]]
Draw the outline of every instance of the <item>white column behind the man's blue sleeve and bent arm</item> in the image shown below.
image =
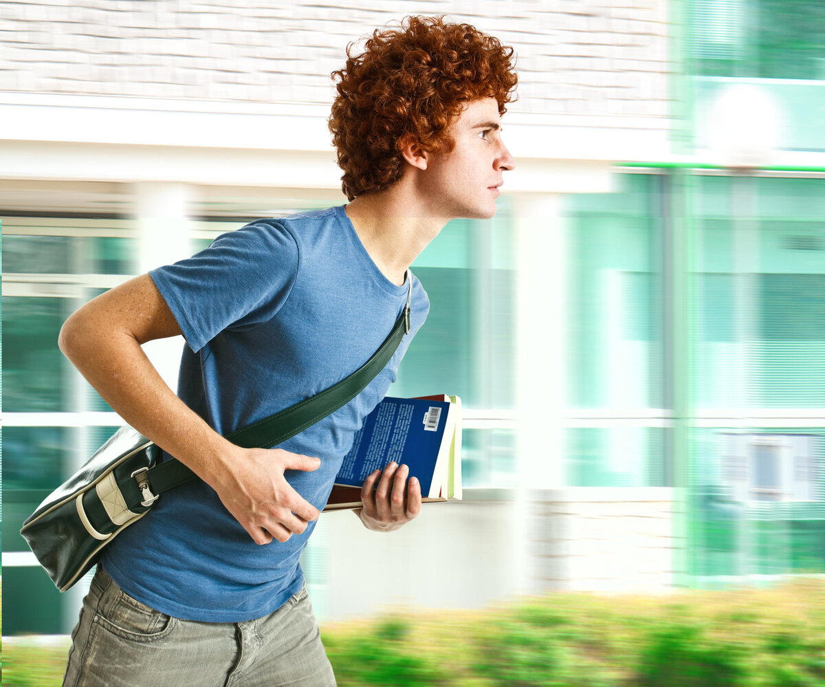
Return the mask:
[[[185,184],[134,184],[134,214],[139,231],[139,273],[190,255],[187,221],[191,189]],[[183,339],[150,341],[144,350],[166,383],[177,389]]]

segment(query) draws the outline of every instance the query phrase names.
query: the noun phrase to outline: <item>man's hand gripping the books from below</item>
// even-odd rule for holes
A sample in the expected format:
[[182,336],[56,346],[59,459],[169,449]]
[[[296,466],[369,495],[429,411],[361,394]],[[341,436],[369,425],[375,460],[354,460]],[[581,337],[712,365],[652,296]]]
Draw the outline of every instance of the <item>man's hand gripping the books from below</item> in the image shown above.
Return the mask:
[[[392,532],[414,519],[421,510],[421,484],[415,477],[407,484],[409,468],[391,462],[384,468],[384,474],[376,470],[364,481],[361,487],[361,503],[364,507],[359,513],[364,527],[375,532]],[[381,477],[378,489],[374,490],[375,480]],[[407,495],[404,498],[404,487]]]

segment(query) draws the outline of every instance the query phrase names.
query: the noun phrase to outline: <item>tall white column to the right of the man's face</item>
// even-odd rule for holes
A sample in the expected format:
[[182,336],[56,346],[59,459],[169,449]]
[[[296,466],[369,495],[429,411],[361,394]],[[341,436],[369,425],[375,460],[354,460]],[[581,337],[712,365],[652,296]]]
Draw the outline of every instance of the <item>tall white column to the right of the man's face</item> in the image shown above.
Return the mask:
[[[559,194],[516,198],[518,232],[518,464],[516,505],[517,589],[536,588],[531,532],[537,522],[533,490],[563,486],[563,415],[565,407],[565,263]],[[540,520],[540,519],[539,519]]]

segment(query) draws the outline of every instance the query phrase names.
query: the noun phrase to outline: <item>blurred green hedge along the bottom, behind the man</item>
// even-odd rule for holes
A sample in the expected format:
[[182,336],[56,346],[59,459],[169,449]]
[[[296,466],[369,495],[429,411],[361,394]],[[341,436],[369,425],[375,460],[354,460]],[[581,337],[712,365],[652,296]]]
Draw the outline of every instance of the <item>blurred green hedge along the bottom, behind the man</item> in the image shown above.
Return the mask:
[[[825,581],[549,594],[328,624],[322,635],[341,687],[825,687]],[[59,685],[65,651],[7,644],[2,684]]]

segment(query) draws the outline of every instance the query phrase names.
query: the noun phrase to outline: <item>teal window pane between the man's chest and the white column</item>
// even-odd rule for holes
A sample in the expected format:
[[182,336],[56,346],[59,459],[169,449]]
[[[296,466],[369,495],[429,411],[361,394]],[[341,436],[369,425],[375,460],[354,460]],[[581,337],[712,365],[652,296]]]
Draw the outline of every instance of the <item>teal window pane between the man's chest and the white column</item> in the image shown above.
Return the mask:
[[430,297],[391,396],[458,394],[472,408],[515,403],[516,272],[501,220],[450,222],[413,263]]

